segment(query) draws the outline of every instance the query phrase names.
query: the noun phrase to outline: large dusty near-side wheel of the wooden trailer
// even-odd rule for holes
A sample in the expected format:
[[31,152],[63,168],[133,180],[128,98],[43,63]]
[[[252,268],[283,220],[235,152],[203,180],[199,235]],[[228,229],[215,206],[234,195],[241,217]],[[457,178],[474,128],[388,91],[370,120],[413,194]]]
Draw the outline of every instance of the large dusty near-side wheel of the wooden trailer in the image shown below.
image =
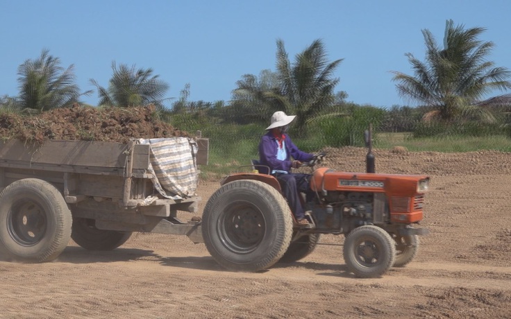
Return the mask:
[[69,243],[72,216],[55,187],[17,180],[0,193],[0,248],[15,261],[56,259]]

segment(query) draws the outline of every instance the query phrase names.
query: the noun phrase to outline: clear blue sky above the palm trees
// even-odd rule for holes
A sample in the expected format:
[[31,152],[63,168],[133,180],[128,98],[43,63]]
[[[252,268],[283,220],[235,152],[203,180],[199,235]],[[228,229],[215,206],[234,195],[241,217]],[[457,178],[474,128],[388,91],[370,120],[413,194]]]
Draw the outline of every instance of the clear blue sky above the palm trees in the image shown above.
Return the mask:
[[348,101],[408,105],[390,71],[412,74],[405,53],[424,60],[422,29],[442,44],[446,19],[487,28],[489,60],[511,69],[510,12],[507,0],[0,0],[0,96],[17,96],[19,64],[49,49],[94,89],[85,103],[97,105],[90,79],[108,86],[112,61],[152,68],[169,98],[189,83],[190,101],[228,101],[242,75],[275,70],[277,39],[290,60],[321,39],[328,60],[344,59],[336,91]]

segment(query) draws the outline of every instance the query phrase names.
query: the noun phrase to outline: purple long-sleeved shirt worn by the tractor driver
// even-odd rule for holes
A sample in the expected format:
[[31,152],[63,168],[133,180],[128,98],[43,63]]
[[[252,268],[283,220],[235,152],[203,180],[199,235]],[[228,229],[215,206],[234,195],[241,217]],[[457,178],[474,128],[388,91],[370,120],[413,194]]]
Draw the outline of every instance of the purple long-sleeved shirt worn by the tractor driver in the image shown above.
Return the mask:
[[294,160],[299,160],[300,162],[310,161],[312,160],[312,157],[314,157],[312,154],[299,150],[299,148],[293,144],[289,135],[284,135],[286,158],[283,161],[277,159],[278,142],[271,130],[261,137],[259,144],[260,163],[261,165],[269,166],[270,171],[278,170],[289,172],[292,166],[290,157],[292,157]]

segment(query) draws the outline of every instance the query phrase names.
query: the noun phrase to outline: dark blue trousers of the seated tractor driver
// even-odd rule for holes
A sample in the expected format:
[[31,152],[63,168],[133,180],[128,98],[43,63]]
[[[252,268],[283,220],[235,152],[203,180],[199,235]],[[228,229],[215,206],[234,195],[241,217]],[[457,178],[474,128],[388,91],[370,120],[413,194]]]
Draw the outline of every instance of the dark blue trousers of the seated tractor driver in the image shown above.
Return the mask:
[[282,188],[282,194],[290,205],[294,217],[297,220],[305,218],[299,193],[305,193],[305,202],[312,200],[314,192],[309,187],[310,174],[274,173],[274,176]]

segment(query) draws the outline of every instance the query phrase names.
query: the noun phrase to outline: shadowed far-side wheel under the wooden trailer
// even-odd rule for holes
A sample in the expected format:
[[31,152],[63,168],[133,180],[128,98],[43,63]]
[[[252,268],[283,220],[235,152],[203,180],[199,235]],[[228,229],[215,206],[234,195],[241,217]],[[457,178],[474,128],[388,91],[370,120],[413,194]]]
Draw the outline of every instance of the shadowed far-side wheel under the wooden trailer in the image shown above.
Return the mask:
[[126,243],[130,236],[131,232],[99,230],[94,224],[94,219],[73,218],[71,238],[87,250],[113,250]]

